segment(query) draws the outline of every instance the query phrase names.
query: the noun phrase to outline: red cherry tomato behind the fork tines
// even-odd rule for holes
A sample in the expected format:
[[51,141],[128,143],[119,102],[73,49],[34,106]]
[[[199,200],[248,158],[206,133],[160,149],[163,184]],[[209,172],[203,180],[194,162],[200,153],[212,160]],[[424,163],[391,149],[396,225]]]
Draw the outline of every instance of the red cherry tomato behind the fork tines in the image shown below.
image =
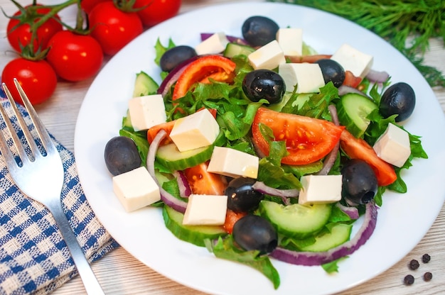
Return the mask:
[[11,60],[1,73],[1,82],[9,87],[14,100],[19,104],[23,103],[14,87],[14,78],[23,87],[31,104],[41,104],[49,99],[57,86],[54,69],[45,60],[31,61],[22,57]]

